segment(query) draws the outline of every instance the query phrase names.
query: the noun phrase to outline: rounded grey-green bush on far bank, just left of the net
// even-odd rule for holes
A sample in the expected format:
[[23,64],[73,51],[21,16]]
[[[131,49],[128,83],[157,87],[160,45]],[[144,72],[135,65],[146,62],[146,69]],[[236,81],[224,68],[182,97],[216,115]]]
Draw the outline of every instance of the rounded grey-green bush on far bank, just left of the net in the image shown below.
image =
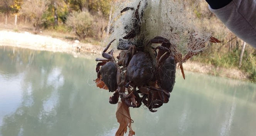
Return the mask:
[[88,32],[91,30],[93,17],[89,12],[73,12],[66,20],[66,25],[71,27],[80,40],[85,39]]

